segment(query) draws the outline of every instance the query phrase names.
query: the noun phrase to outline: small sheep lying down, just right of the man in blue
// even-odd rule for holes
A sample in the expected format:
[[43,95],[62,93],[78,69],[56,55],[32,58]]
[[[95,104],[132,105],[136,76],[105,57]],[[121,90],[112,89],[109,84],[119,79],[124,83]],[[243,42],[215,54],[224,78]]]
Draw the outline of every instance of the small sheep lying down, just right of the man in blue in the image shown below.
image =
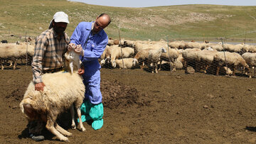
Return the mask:
[[114,60],[113,61],[113,67],[119,67],[120,69],[121,68],[124,68],[124,69],[131,69],[132,67],[135,67],[138,63],[137,60],[134,61],[134,58],[124,58],[124,65],[122,63],[122,59],[120,60]]

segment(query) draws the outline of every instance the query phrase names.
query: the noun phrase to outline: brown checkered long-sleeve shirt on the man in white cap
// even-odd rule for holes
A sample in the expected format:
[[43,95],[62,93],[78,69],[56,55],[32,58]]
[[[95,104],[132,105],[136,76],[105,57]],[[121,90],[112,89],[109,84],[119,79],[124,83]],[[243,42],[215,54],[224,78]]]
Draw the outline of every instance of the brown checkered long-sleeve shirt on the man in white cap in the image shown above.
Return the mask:
[[63,55],[68,50],[70,38],[64,33],[60,39],[50,28],[36,38],[33,55],[32,72],[35,84],[42,81],[43,70],[54,70],[63,67]]

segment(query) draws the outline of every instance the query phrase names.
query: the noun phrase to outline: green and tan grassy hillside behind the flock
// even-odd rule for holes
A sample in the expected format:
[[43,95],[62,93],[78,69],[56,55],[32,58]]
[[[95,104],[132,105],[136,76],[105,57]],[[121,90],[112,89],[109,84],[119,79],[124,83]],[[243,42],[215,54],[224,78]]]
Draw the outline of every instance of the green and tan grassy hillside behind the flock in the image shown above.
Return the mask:
[[[181,5],[148,8],[96,6],[65,0],[1,0],[0,40],[16,41],[37,36],[48,28],[56,11],[70,18],[68,35],[80,21],[94,21],[108,13],[109,37],[138,40],[216,39],[228,37],[256,40],[256,6]],[[245,34],[246,33],[246,34]],[[13,34],[14,36],[9,36]]]

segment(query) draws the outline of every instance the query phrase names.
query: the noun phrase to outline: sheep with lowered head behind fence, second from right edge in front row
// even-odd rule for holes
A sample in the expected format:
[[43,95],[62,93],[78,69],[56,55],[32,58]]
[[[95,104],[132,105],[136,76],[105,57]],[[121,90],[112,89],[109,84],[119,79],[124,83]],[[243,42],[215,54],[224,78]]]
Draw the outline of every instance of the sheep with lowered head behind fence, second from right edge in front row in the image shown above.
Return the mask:
[[233,70],[233,76],[235,76],[235,69],[237,67],[245,67],[249,69],[249,66],[247,65],[245,60],[242,58],[242,56],[236,52],[217,52],[214,55],[213,60],[218,65],[216,70],[217,76],[218,76],[220,67],[223,67],[225,65],[228,65],[228,68],[230,68],[230,70]]

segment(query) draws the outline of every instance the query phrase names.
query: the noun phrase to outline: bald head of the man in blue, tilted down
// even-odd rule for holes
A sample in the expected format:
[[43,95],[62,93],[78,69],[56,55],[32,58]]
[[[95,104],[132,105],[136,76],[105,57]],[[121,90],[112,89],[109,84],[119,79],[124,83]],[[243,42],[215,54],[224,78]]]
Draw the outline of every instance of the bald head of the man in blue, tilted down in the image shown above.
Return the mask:
[[102,29],[106,28],[111,22],[110,16],[108,16],[106,13],[100,14],[100,16],[97,16],[93,31],[96,33],[101,31]]

